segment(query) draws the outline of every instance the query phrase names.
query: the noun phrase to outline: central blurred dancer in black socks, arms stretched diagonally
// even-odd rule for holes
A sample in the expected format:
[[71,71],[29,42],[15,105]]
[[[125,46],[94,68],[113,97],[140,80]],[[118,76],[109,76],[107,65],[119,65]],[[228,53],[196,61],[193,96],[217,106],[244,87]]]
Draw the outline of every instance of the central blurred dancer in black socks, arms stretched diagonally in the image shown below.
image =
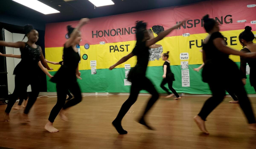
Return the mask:
[[142,125],[145,125],[148,129],[152,130],[152,128],[147,125],[145,122],[145,116],[147,112],[151,109],[151,107],[154,105],[154,103],[159,98],[159,94],[157,93],[154,85],[152,82],[145,76],[146,75],[146,69],[147,64],[149,62],[149,46],[153,45],[154,43],[162,40],[167,34],[169,34],[172,30],[178,28],[181,26],[182,23],[175,25],[174,27],[163,31],[160,33],[156,38],[149,40],[149,32],[146,29],[146,23],[139,21],[136,23],[136,45],[133,49],[133,51],[124,56],[122,59],[120,59],[117,63],[112,65],[109,69],[112,70],[117,65],[120,65],[124,62],[126,62],[128,59],[130,59],[133,56],[137,56],[137,64],[135,67],[133,67],[128,75],[128,80],[132,82],[131,85],[131,93],[130,97],[123,103],[117,117],[112,122],[113,126],[117,130],[119,134],[127,134],[127,131],[125,131],[122,128],[121,121],[127,111],[130,109],[130,107],[135,103],[137,100],[139,91],[146,90],[148,91],[152,97],[150,98],[149,102],[147,103],[147,106],[145,108],[145,111],[139,120],[139,123]]

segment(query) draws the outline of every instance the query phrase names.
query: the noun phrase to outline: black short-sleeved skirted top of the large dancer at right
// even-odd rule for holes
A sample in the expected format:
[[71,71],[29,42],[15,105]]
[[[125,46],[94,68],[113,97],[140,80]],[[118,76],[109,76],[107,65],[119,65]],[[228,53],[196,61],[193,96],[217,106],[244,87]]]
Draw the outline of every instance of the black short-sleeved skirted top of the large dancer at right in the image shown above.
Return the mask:
[[238,66],[225,54],[214,46],[213,40],[224,38],[220,32],[211,34],[207,43],[203,43],[203,50],[206,55],[205,66],[202,71],[203,82],[227,82],[230,80],[240,80]]

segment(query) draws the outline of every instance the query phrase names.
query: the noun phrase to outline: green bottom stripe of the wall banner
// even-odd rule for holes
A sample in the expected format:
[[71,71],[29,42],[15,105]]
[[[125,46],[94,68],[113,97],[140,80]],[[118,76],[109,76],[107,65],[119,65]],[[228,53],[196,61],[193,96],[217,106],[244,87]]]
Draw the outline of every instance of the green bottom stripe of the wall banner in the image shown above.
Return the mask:
[[[236,63],[240,65],[240,62]],[[202,81],[201,72],[193,71],[193,68],[198,68],[200,65],[189,65],[190,73],[190,87],[181,86],[181,66],[171,66],[171,71],[174,73],[175,81],[173,82],[173,88],[178,93],[189,94],[211,94],[208,84]],[[91,75],[91,70],[80,70],[82,80],[78,80],[82,93],[129,93],[130,86],[124,85],[125,69],[116,68],[110,71],[109,69],[98,69],[96,75]],[[56,72],[49,72],[54,75]],[[63,74],[65,75],[65,74]],[[158,93],[165,93],[160,87],[162,82],[163,67],[155,66],[147,68],[147,77],[153,82]],[[47,91],[56,92],[56,84],[49,81],[47,77]],[[65,81],[65,80],[63,80]],[[254,88],[251,87],[249,76],[246,79],[247,84],[245,86],[248,94],[255,94]],[[165,85],[168,88],[168,85]],[[141,93],[147,93],[142,90]]]

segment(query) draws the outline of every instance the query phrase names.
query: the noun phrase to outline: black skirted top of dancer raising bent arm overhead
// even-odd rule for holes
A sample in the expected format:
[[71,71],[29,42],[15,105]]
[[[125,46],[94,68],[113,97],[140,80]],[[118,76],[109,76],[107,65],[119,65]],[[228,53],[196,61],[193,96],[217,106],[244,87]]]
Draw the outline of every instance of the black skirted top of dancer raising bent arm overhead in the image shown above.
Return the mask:
[[72,46],[63,49],[63,65],[57,71],[57,73],[51,78],[52,82],[76,82],[77,78],[75,75],[75,70],[77,69],[78,63],[80,61],[80,56],[78,52],[75,52]]

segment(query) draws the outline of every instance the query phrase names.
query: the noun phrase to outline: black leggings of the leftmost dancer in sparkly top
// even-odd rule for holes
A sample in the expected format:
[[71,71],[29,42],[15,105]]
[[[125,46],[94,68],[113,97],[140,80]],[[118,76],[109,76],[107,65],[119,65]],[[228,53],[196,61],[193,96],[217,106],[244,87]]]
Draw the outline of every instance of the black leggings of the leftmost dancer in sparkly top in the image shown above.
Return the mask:
[[40,84],[40,78],[38,76],[23,75],[23,74],[15,75],[15,88],[14,88],[13,94],[11,94],[8,100],[8,104],[5,109],[5,112],[10,113],[11,108],[13,107],[16,100],[19,97],[24,97],[23,96],[24,93],[27,93],[27,86],[31,85],[32,92],[31,92],[29,101],[27,103],[27,106],[24,110],[24,113],[28,114],[29,110],[37,100],[37,97],[39,94],[39,84]]

